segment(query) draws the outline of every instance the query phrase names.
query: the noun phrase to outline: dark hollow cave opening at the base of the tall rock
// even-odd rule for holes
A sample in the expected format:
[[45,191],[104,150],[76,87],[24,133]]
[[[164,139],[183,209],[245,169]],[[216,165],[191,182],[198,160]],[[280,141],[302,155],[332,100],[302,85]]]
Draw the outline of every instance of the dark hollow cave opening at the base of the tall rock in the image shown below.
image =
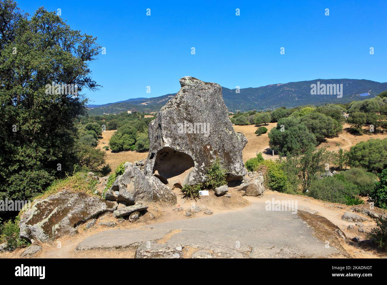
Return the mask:
[[190,155],[170,147],[164,147],[156,154],[152,173],[161,182],[173,188],[176,183],[183,185],[184,178],[194,166],[194,160]]

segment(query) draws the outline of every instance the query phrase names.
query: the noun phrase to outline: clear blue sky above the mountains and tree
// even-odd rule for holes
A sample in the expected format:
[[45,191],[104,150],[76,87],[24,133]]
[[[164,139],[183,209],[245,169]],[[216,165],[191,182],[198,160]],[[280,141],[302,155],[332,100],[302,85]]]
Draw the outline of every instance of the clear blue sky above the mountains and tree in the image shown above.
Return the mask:
[[17,2],[29,14],[40,6],[62,9],[73,29],[106,47],[91,64],[103,88],[86,93],[89,104],[177,92],[187,75],[228,88],[317,78],[387,81],[387,1]]

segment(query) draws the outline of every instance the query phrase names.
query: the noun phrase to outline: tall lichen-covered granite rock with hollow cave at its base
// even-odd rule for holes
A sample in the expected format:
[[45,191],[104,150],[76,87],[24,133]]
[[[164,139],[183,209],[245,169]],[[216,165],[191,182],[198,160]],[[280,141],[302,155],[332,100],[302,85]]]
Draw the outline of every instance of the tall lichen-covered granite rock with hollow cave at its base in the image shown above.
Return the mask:
[[186,76],[180,91],[149,124],[147,176],[170,187],[205,181],[208,167],[219,159],[227,180],[242,180],[242,149],[247,139],[235,133],[219,84]]

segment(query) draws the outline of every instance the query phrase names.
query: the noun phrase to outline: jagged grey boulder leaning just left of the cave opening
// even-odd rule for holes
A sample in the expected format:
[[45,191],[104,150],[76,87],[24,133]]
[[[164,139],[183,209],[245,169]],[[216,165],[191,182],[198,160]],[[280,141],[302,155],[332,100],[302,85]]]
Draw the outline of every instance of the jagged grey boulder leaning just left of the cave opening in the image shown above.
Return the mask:
[[130,162],[124,164],[125,171],[117,176],[105,199],[123,201],[129,205],[142,200],[144,202],[176,203],[176,195],[154,176],[145,176],[144,172]]

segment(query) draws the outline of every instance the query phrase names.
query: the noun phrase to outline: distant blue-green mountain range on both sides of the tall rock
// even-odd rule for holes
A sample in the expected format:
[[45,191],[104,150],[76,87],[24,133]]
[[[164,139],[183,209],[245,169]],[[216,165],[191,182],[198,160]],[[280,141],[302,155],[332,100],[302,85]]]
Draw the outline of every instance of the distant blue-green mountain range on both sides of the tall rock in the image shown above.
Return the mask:
[[[311,95],[311,85],[342,84],[342,97],[336,95]],[[224,103],[229,111],[267,110],[300,105],[322,105],[326,103],[348,103],[377,96],[387,90],[387,82],[366,79],[315,79],[289,83],[271,84],[239,90],[222,87]],[[369,95],[367,95],[367,93]],[[158,111],[176,93],[153,98],[131,98],[103,105],[87,105],[89,115],[117,114],[126,111]]]

